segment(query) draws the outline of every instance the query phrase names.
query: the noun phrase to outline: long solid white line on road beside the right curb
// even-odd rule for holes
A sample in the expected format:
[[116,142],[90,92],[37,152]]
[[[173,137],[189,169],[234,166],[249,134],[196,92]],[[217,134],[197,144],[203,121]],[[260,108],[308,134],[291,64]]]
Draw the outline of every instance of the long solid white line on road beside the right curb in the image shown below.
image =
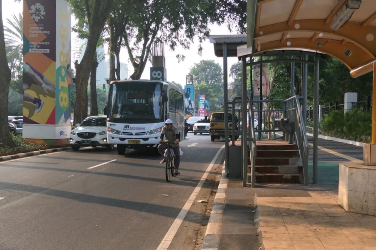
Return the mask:
[[191,206],[192,206],[194,200],[196,199],[197,195],[199,194],[202,185],[204,184],[206,178],[208,177],[209,172],[210,172],[211,168],[212,168],[213,165],[214,165],[214,162],[217,160],[217,158],[218,158],[218,156],[219,156],[219,154],[221,153],[221,150],[222,150],[223,148],[224,148],[224,145],[218,150],[217,154],[215,154],[213,160],[212,160],[211,163],[209,164],[209,166],[208,166],[208,168],[206,169],[205,173],[202,175],[199,184],[197,184],[196,188],[193,190],[193,193],[192,193],[191,196],[188,198],[188,201],[186,201],[184,207],[182,208],[182,210],[180,211],[180,213],[178,214],[178,216],[176,217],[176,219],[175,219],[174,222],[172,223],[170,229],[168,229],[167,234],[165,235],[165,237],[164,237],[163,240],[161,241],[161,244],[159,244],[157,250],[168,249],[168,247],[170,246],[171,241],[172,241],[173,238],[175,237],[177,230],[179,229],[179,227],[180,227],[180,225],[182,224],[182,222],[183,222],[183,220],[184,220],[186,214],[187,214],[188,211],[190,210],[190,208],[191,208]]

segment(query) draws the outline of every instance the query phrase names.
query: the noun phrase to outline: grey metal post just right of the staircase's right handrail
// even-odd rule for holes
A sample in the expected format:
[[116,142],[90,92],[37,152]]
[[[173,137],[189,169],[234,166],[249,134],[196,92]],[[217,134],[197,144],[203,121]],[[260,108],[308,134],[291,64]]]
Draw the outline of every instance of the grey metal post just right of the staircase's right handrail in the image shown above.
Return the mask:
[[318,137],[318,79],[320,56],[315,56],[315,75],[313,86],[313,183],[317,183],[317,137]]

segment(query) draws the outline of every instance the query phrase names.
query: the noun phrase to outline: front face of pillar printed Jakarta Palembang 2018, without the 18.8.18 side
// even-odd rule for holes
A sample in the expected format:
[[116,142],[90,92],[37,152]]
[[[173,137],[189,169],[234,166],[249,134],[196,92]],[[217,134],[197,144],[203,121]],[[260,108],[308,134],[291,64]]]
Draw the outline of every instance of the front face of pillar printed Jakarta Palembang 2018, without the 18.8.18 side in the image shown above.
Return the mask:
[[23,1],[22,86],[26,124],[55,124],[55,12],[55,1]]

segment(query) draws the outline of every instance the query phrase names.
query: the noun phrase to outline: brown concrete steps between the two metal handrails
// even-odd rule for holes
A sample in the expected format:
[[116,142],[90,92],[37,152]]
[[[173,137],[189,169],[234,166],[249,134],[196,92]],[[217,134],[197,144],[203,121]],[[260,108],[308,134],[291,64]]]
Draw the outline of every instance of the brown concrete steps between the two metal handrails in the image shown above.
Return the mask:
[[[285,141],[258,141],[255,183],[304,183],[303,165],[296,144]],[[251,183],[250,161],[248,183]]]

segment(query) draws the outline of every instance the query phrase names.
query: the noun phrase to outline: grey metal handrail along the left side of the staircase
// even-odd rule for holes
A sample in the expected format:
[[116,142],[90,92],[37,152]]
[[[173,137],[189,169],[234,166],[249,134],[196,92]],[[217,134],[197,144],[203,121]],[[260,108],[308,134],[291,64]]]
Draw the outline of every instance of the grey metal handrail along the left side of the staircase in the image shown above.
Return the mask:
[[[251,163],[251,187],[255,187],[255,165],[256,165],[256,136],[255,136],[255,124],[253,120],[253,108],[252,108],[252,101],[251,98],[248,99],[248,121],[249,121],[249,130],[248,130],[248,138],[249,141],[249,159]],[[247,178],[248,176],[245,175],[243,178]]]

